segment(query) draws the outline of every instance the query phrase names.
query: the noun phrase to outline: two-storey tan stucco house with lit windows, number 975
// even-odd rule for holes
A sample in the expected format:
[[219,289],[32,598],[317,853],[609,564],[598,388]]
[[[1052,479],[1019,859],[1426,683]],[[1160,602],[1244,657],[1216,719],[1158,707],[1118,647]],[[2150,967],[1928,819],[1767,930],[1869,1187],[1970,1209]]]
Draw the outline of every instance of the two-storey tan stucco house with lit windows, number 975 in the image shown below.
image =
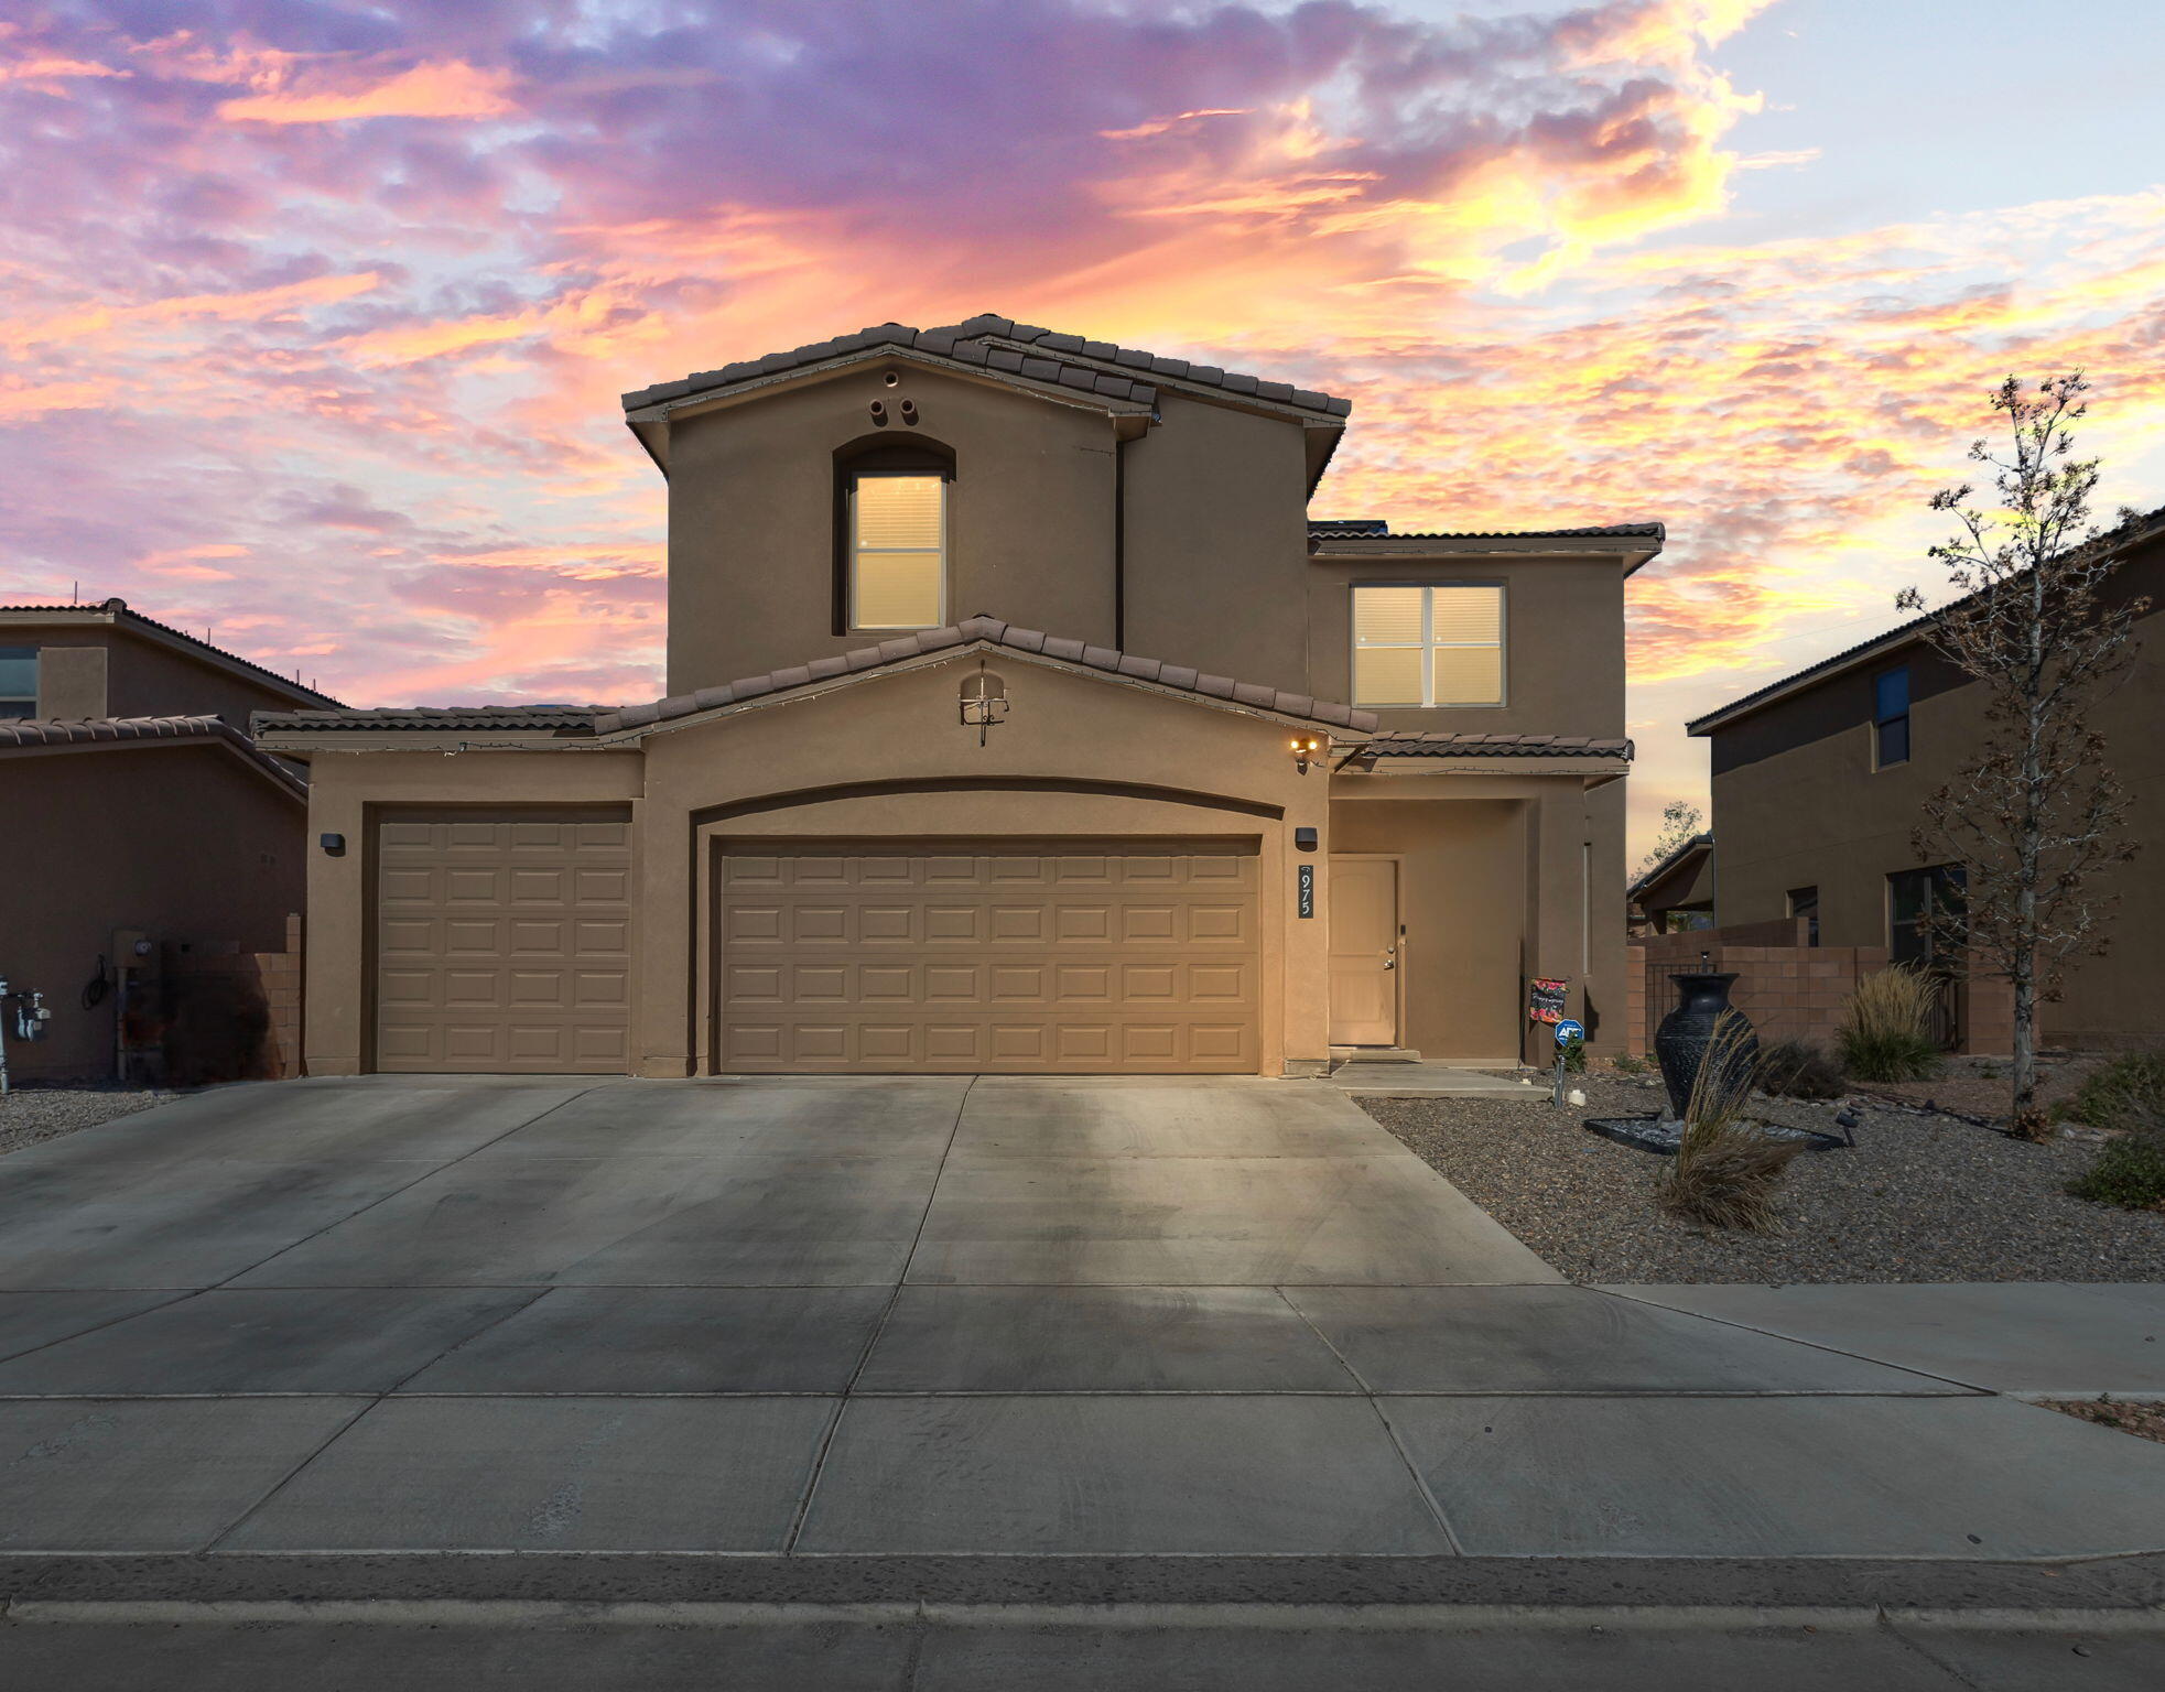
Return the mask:
[[1661,526],[1310,524],[1347,411],[1005,318],[628,394],[669,697],[258,718],[310,1071],[1513,1060],[1528,976],[1600,1041]]

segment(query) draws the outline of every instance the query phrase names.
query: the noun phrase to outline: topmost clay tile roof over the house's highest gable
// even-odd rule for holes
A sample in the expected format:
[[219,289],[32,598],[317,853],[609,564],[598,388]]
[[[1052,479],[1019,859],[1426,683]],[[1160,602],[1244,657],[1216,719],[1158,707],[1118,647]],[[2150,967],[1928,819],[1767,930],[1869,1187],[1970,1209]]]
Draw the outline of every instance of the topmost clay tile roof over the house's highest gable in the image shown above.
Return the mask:
[[[1009,342],[1009,346],[987,346],[987,342]],[[1186,359],[1160,359],[1156,353],[1143,353],[1132,346],[1115,346],[1113,342],[1102,340],[1085,340],[1082,335],[1063,335],[1052,329],[1039,329],[1033,322],[1015,322],[1013,318],[994,316],[992,312],[983,312],[966,322],[942,325],[940,329],[911,329],[905,322],[881,322],[872,329],[860,329],[855,335],[836,335],[834,340],[808,342],[805,346],[797,346],[788,353],[740,359],[738,363],[725,363],[719,370],[701,370],[691,376],[680,376],[678,381],[639,387],[624,396],[624,409],[637,411],[647,405],[680,400],[691,394],[734,387],[736,383],[751,381],[753,376],[801,370],[805,366],[825,363],[827,359],[838,359],[870,346],[911,346],[920,353],[933,353],[944,359],[983,363],[992,370],[1007,370],[1009,374],[1059,383],[1061,387],[1076,387],[1113,400],[1134,400],[1139,405],[1156,405],[1158,389],[1145,381],[1137,381],[1134,374],[1128,372],[1167,376],[1197,387],[1217,387],[1225,394],[1249,394],[1262,400],[1290,405],[1301,411],[1316,411],[1325,418],[1344,418],[1353,411],[1351,400],[1336,400],[1329,394],[1316,394],[1308,387],[1262,381],[1241,372],[1228,374],[1215,366],[1197,366]],[[1028,353],[1015,351],[1024,346]],[[1098,366],[1117,366],[1117,370],[1102,370]]]

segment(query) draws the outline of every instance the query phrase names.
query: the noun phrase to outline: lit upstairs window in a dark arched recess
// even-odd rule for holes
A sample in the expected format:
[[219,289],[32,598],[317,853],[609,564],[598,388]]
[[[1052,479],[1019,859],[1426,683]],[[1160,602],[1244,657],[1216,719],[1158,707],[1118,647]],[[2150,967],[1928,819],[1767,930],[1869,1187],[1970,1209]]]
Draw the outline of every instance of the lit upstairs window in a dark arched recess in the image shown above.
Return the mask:
[[836,452],[836,634],[948,621],[955,454],[877,435]]

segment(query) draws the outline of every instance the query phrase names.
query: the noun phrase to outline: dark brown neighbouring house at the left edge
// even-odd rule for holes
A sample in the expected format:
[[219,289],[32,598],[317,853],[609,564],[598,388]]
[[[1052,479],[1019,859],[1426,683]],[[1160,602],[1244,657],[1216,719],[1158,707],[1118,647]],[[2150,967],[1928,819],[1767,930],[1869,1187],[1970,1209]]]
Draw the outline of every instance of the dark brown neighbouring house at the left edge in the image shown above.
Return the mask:
[[15,1078],[108,1080],[123,1041],[139,1073],[253,1062],[238,989],[197,976],[286,950],[307,788],[249,714],[333,703],[121,599],[0,606],[0,976],[52,1010],[43,1041],[9,1045]]

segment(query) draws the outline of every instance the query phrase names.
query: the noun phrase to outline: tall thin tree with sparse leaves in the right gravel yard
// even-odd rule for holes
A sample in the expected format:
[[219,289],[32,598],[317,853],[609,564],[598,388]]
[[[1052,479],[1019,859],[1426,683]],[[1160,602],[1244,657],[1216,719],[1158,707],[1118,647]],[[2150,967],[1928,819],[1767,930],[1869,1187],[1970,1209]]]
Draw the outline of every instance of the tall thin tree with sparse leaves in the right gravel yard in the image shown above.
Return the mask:
[[[1992,396],[2009,446],[1974,441],[1992,465],[1998,511],[1970,502],[1970,485],[1933,495],[1959,530],[1931,556],[1959,597],[1933,614],[1927,640],[1979,682],[1985,736],[1955,779],[1925,801],[1914,833],[1931,863],[1959,863],[1966,887],[1927,913],[1936,943],[1972,974],[2013,987],[2013,1129],[2037,1134],[2037,1006],[2059,997],[2070,959],[2107,946],[2113,904],[2094,878],[2135,857],[2126,794],[2104,764],[2091,708],[2135,656],[2141,599],[2102,593],[2117,550],[2098,541],[2089,495],[2098,461],[2074,457],[2083,418],[2081,372],[2050,376],[2035,394],[2009,376]],[[2133,513],[2124,513],[2133,517]],[[1905,589],[1897,602],[1923,610]]]

